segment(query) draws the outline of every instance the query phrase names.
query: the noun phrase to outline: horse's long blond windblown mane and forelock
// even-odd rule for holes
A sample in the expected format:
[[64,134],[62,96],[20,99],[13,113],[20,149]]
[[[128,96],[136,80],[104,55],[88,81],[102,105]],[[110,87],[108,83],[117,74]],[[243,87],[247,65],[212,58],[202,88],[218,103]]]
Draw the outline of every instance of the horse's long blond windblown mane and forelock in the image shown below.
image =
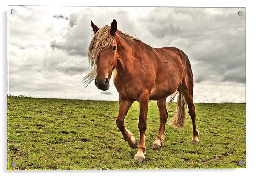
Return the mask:
[[[125,37],[132,39],[136,42],[141,42],[141,40],[135,38],[134,36],[130,36],[127,33],[122,33],[121,31],[118,31],[118,34],[122,34]],[[110,34],[110,26],[105,25],[103,28],[98,30],[93,38],[91,39],[91,43],[88,47],[88,58],[89,58],[89,64],[91,67],[91,72],[88,73],[84,78],[82,78],[83,83],[85,83],[85,87],[87,87],[91,81],[93,81],[96,78],[96,63],[97,59],[99,57],[99,54],[102,50],[104,50],[106,47],[110,47],[113,45],[114,42],[114,36]],[[116,77],[116,69],[113,70],[113,79],[115,80]]]

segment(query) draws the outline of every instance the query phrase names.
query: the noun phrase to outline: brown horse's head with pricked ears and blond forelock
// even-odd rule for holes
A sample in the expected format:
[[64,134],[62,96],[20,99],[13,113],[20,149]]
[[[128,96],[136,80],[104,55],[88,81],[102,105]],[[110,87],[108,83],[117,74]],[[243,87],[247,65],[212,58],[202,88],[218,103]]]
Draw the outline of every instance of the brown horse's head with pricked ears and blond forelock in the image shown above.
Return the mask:
[[88,48],[88,56],[94,67],[95,85],[98,89],[108,90],[109,79],[117,66],[117,21],[114,19],[110,27],[106,25],[101,29],[91,21],[91,27],[94,37]]

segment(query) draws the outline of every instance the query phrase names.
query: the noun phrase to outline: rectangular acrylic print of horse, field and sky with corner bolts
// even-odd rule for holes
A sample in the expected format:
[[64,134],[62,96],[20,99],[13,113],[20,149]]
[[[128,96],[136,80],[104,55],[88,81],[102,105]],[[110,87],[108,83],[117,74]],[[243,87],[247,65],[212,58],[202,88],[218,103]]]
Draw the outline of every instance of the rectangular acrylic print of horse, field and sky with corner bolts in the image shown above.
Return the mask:
[[245,168],[245,8],[7,17],[8,170]]

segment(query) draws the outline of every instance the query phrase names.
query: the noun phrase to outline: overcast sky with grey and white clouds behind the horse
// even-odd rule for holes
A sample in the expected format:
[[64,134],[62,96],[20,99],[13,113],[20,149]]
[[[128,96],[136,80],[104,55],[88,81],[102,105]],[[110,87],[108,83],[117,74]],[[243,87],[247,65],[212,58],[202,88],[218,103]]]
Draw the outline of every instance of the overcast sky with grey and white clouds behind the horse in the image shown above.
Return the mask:
[[[17,14],[10,13],[15,8]],[[191,61],[195,102],[245,102],[245,8],[9,6],[8,93],[47,98],[118,100],[89,72],[90,20],[152,47],[178,47]]]

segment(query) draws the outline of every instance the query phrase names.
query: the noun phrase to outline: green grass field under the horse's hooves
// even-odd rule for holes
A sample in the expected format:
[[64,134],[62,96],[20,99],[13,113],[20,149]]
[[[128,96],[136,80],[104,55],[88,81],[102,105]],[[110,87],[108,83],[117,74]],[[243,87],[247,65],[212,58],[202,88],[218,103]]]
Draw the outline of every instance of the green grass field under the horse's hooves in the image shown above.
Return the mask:
[[[116,126],[118,101],[7,97],[7,169],[173,169],[245,168],[245,104],[195,103],[199,145],[192,145],[189,115],[184,130],[165,128],[160,150],[150,146],[159,129],[159,111],[148,109],[143,162],[133,160]],[[175,103],[168,109],[174,115]],[[139,142],[139,103],[134,102],[125,125]],[[17,167],[11,167],[17,162]]]

